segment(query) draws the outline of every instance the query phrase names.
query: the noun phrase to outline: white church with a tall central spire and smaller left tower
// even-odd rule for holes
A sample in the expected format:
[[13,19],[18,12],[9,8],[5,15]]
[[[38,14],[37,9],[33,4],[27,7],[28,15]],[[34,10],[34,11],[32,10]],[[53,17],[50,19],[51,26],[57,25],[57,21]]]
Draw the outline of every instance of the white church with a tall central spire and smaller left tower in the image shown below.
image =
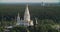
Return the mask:
[[20,19],[20,16],[18,13],[16,25],[33,26],[33,20],[30,19],[30,13],[29,13],[28,5],[26,5],[26,9],[25,9],[25,13],[24,13],[24,20]]

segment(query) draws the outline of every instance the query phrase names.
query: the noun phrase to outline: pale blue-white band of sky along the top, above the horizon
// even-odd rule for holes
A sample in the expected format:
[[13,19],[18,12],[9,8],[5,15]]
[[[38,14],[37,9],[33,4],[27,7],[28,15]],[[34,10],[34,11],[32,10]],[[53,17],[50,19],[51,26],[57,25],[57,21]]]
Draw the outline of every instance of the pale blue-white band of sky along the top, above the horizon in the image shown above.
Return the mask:
[[0,0],[0,3],[58,3],[59,0]]

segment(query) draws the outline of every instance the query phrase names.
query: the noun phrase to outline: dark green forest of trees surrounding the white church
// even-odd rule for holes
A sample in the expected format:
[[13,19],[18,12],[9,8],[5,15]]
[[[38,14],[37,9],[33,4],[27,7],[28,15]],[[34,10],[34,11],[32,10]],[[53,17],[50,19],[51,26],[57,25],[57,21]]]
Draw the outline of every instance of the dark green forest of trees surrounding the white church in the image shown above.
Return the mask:
[[[15,25],[18,12],[23,19],[24,5],[0,5],[0,32],[4,32],[5,26]],[[35,22],[37,17],[38,25],[32,27],[16,26],[10,32],[60,32],[52,26],[60,25],[60,6],[34,6],[29,5],[31,19]]]

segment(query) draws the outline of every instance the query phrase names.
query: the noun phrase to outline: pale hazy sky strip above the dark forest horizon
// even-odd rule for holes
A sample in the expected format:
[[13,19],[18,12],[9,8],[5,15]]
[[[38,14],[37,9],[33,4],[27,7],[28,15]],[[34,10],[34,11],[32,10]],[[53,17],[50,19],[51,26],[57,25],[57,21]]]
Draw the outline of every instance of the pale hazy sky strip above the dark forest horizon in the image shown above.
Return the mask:
[[2,3],[19,3],[19,2],[60,2],[59,0],[0,0]]

